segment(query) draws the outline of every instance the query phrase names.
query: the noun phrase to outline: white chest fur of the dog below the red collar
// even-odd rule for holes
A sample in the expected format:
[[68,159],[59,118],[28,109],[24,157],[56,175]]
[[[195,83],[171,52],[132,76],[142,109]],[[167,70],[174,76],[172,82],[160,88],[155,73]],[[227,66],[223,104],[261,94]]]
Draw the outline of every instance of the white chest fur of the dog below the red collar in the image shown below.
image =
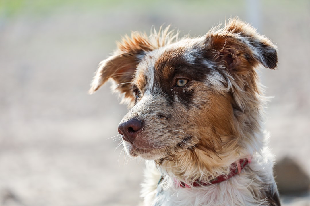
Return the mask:
[[[262,154],[263,153],[263,156]],[[260,187],[261,184],[275,185],[272,176],[273,156],[266,147],[255,153],[252,162],[249,164],[252,174],[244,168],[240,174],[218,184],[182,188],[176,184],[175,179],[168,175],[159,183],[161,173],[154,161],[146,163],[145,182],[142,184],[141,197],[144,198],[144,206],[263,206],[270,203],[258,200],[259,197],[253,194],[253,188]],[[262,170],[263,169],[263,170]],[[255,172],[261,173],[269,179],[262,180]],[[262,174],[263,173],[263,174]]]

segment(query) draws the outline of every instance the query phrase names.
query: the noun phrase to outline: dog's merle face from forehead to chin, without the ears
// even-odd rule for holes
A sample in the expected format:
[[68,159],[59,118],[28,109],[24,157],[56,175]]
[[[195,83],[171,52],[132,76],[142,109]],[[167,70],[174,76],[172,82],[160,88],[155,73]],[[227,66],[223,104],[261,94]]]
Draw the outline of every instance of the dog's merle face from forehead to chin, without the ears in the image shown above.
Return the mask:
[[[199,41],[180,41],[144,55],[131,84],[135,104],[118,127],[128,154],[159,159],[201,141],[209,150],[219,146],[210,134],[214,125],[232,122],[232,99],[214,65],[199,51]],[[230,135],[230,129],[224,132]]]

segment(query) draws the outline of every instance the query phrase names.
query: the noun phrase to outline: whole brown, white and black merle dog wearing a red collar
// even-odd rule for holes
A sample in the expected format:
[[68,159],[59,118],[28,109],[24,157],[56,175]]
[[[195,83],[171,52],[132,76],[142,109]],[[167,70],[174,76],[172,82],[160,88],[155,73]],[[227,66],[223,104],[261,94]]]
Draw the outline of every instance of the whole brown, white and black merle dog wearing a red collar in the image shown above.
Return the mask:
[[276,46],[238,18],[200,37],[168,26],[117,43],[89,92],[111,80],[130,109],[118,132],[146,160],[145,206],[280,205],[257,73],[277,61]]

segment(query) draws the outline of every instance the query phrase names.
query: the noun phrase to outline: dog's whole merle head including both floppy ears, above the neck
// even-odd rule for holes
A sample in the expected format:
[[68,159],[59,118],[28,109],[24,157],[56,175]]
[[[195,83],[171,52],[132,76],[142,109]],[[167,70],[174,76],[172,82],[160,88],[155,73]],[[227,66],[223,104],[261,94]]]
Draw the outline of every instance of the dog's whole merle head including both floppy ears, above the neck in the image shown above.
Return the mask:
[[236,19],[193,39],[174,41],[167,30],[150,38],[133,33],[101,62],[91,93],[111,78],[123,94],[131,109],[118,131],[131,156],[158,160],[199,150],[220,157],[257,130],[248,114],[259,109],[259,64],[275,68],[276,48]]

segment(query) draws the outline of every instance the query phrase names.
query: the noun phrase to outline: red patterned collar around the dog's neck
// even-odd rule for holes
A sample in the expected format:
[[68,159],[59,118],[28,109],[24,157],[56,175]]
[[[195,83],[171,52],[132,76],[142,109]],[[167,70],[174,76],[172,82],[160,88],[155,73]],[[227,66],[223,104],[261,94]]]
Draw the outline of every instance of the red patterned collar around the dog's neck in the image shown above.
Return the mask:
[[[241,170],[250,162],[251,162],[251,158],[240,159],[239,162],[234,162],[230,165],[230,172],[228,174],[220,175],[217,178],[212,179],[209,182],[201,182],[199,180],[196,180],[191,185],[188,185],[188,184],[181,182],[177,179],[175,179],[175,182],[176,182],[177,186],[183,187],[183,188],[217,184],[217,183],[223,182],[223,181],[233,177],[235,174],[239,174],[241,172]],[[159,180],[158,183],[160,183],[162,181],[162,179],[163,179],[163,177]]]

